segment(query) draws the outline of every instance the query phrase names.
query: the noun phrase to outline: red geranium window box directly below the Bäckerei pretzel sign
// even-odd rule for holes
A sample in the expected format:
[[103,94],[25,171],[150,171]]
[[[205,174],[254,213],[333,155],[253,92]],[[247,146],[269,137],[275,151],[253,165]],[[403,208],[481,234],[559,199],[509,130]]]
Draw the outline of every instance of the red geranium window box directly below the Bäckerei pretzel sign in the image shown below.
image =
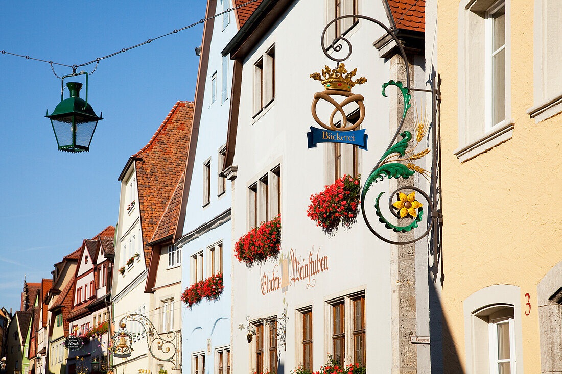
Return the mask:
[[311,195],[306,215],[326,232],[339,224],[349,227],[355,222],[361,204],[361,176],[344,175],[324,191]]

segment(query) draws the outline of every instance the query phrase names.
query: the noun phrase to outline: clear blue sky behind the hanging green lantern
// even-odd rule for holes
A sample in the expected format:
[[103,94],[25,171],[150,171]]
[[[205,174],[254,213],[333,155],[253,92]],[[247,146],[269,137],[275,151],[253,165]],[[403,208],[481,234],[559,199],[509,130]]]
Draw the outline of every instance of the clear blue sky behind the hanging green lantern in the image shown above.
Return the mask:
[[[2,2],[0,50],[79,64],[197,22],[205,7],[205,0]],[[99,63],[88,102],[105,119],[88,153],[57,150],[44,118],[60,101],[51,67],[0,54],[0,307],[19,309],[24,274],[29,282],[51,277],[53,263],[115,225],[117,177],[127,159],[176,101],[193,100],[202,30],[197,25]]]

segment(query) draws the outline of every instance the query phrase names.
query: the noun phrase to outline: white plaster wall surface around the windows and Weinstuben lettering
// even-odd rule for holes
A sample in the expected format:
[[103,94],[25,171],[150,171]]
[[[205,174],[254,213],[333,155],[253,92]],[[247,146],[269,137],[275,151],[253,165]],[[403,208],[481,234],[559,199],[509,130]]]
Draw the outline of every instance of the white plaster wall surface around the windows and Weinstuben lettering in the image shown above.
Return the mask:
[[[273,26],[260,45],[244,62],[242,96],[237,132],[237,152],[234,165],[238,166],[233,193],[233,242],[248,230],[246,224],[247,187],[271,166],[282,165],[282,257],[293,250],[297,257],[307,259],[314,254],[328,257],[328,271],[310,279],[292,282],[286,293],[275,290],[262,294],[260,279],[271,274],[278,261],[270,259],[250,270],[233,259],[233,357],[238,372],[248,372],[255,366],[250,362],[250,348],[246,342],[247,331],[235,327],[246,323],[246,317],[264,318],[280,316],[287,309],[287,350],[281,352],[281,365],[285,372],[293,370],[298,362],[297,308],[312,305],[313,369],[319,370],[333,352],[327,337],[330,326],[326,301],[365,290],[366,294],[366,358],[367,370],[391,371],[391,293],[389,286],[389,245],[375,238],[359,216],[349,229],[338,229],[335,236],[324,234],[315,222],[306,216],[310,195],[324,188],[326,145],[306,148],[306,131],[317,126],[310,114],[310,103],[315,92],[323,90],[312,72],[320,72],[324,65],[336,64],[324,57],[319,40],[324,28],[324,2],[320,0],[294,3],[285,17]],[[387,23],[382,2],[361,2],[361,13]],[[303,22],[302,20],[305,20]],[[298,26],[297,26],[298,25]],[[355,86],[354,93],[365,96],[368,108],[364,127],[369,135],[368,151],[360,151],[360,172],[366,177],[388,146],[389,99],[380,95],[380,87],[389,80],[389,69],[379,58],[372,44],[383,35],[377,25],[360,22],[351,34],[352,56],[345,62],[348,70],[357,67],[357,76],[365,76],[368,83]],[[275,101],[269,109],[252,120],[253,63],[275,43],[276,80]],[[345,48],[345,47],[344,47]],[[390,88],[392,89],[392,88]],[[329,116],[320,113],[320,117]],[[318,127],[318,126],[317,126]],[[388,191],[387,183],[374,189]],[[374,195],[368,195],[366,206],[372,207]],[[373,215],[373,211],[368,212]],[[384,230],[384,229],[383,229]],[[346,313],[350,311],[347,310]],[[349,314],[346,314],[346,318]],[[346,347],[346,356],[351,353]]]

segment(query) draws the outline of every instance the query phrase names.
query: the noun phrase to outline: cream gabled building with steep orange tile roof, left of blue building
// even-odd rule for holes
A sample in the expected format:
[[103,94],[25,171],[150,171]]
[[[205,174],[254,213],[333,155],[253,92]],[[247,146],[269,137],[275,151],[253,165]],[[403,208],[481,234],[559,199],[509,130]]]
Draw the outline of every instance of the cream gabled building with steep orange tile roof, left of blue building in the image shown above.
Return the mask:
[[[162,218],[167,207],[170,207],[171,211],[174,210],[174,191],[179,191],[178,184],[185,166],[191,135],[192,116],[193,103],[175,103],[152,139],[129,158],[119,175],[121,195],[116,230],[116,271],[112,279],[111,293],[116,329],[119,329],[117,325],[121,318],[129,314],[150,316],[151,321],[158,321],[153,323],[158,331],[162,327],[174,330],[179,328],[179,322],[178,325],[171,325],[173,319],[167,322],[162,317],[163,314],[169,315],[162,313],[162,310],[168,310],[167,308],[173,305],[167,304],[166,300],[174,298],[175,304],[178,304],[180,268],[176,268],[177,262],[173,262],[174,266],[167,270],[167,250],[168,245],[173,243],[170,232],[174,230],[169,229],[179,225],[167,226],[162,222]],[[170,216],[173,214],[170,213],[166,217]],[[167,222],[167,218],[165,221]],[[153,247],[148,245],[151,242],[155,246],[155,252]],[[174,258],[172,255],[173,253],[170,253]],[[177,260],[177,254],[175,256]],[[165,267],[163,272],[158,269],[159,264]],[[151,278],[147,282],[149,268]],[[160,276],[157,276],[158,274]],[[177,278],[174,279],[175,277]],[[156,293],[156,288],[160,286],[164,288],[162,294],[158,293],[158,298],[162,297],[162,300],[155,300],[150,293]],[[179,314],[176,318],[179,318]],[[166,322],[166,326],[160,326],[161,321]],[[134,334],[134,350],[121,357],[123,359],[114,360],[116,371],[158,372],[157,364],[161,363],[156,362],[148,352],[144,327],[137,322],[127,322],[126,330]]]

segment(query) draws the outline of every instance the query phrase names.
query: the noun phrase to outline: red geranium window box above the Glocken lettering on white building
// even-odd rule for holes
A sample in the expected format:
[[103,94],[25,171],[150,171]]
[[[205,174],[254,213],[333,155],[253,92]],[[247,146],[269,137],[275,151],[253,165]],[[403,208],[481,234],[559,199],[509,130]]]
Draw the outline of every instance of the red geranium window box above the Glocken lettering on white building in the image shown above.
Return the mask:
[[281,247],[281,215],[244,234],[234,245],[235,256],[247,266],[264,262],[269,257],[277,257]]

